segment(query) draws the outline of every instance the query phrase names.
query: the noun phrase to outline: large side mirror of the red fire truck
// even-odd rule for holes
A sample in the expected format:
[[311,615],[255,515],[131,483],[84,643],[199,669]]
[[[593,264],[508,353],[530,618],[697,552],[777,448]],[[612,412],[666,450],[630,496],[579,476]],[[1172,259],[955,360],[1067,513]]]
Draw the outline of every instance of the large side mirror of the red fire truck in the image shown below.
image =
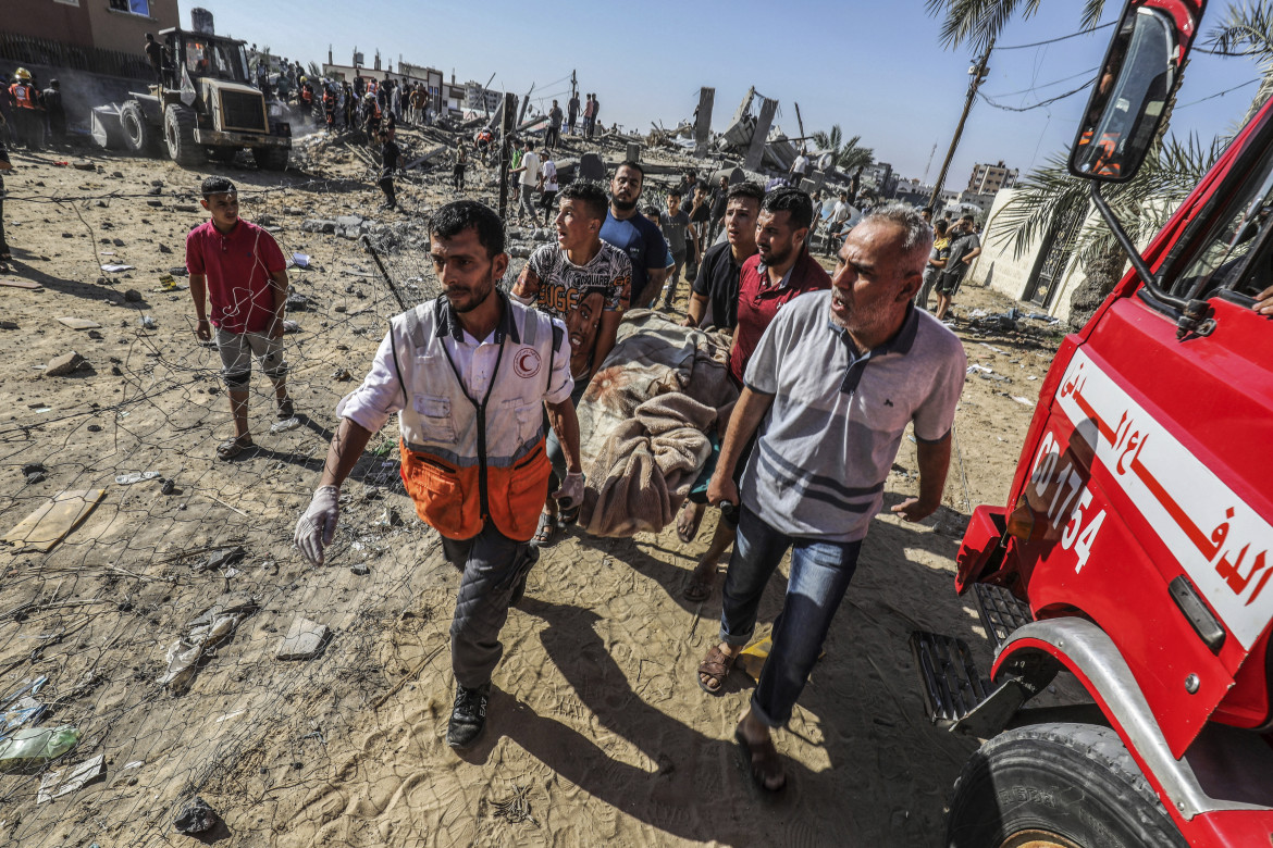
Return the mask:
[[1180,79],[1197,17],[1180,0],[1129,0],[1069,153],[1069,173],[1125,183],[1139,170]]

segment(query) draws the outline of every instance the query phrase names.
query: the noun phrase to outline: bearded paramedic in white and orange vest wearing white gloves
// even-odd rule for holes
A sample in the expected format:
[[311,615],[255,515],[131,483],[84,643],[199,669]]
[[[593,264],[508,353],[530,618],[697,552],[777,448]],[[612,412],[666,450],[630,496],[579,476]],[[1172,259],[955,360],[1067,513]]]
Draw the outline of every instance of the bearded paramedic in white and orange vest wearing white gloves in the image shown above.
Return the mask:
[[340,426],[295,542],[322,563],[323,545],[335,538],[340,484],[372,434],[397,412],[407,495],[462,572],[451,623],[456,699],[447,742],[467,748],[486,721],[490,676],[503,651],[499,631],[538,557],[530,542],[552,470],[545,404],[568,467],[554,497],[580,502],[583,474],[565,327],[499,289],[508,268],[499,216],[456,201],[434,214],[430,230],[444,294],[392,319],[370,373],[336,407]]

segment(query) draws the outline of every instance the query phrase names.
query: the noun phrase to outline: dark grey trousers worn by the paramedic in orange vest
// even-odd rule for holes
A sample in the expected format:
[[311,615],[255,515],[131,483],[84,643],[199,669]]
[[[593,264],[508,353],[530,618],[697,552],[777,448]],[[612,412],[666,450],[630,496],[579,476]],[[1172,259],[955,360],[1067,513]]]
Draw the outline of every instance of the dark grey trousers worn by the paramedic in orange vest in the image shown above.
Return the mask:
[[443,537],[442,551],[461,572],[451,620],[451,669],[456,683],[475,689],[490,681],[504,653],[499,631],[508,619],[509,596],[538,552],[528,542],[509,539],[490,521],[472,539]]

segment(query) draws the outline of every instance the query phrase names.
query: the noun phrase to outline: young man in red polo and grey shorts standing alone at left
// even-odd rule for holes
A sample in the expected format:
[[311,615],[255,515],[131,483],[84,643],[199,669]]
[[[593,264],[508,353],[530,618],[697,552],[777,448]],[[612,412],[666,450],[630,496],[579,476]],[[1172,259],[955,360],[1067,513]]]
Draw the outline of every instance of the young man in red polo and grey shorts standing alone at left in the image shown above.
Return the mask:
[[[233,459],[252,446],[247,427],[247,388],[252,357],[274,383],[279,421],[294,417],[283,359],[283,310],[288,300],[288,272],[274,236],[238,216],[238,189],[224,177],[209,177],[202,184],[204,209],[211,220],[186,236],[186,268],[190,296],[199,320],[195,334],[213,338],[222,356],[222,379],[230,395],[234,437],[216,448],[222,459]],[[206,304],[213,311],[206,314]],[[209,318],[211,325],[209,325]]]

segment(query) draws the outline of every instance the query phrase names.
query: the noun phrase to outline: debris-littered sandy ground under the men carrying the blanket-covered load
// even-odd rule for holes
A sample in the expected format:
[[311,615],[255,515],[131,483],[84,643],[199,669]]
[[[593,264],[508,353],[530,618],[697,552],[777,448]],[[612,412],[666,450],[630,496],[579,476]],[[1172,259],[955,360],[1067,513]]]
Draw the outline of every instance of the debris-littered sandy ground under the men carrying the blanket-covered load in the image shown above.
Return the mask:
[[[404,136],[416,151],[432,146]],[[327,564],[311,567],[290,547],[335,402],[398,311],[355,242],[300,230],[304,217],[374,216],[367,168],[339,147],[298,158],[300,173],[207,168],[239,183],[244,217],[281,228],[284,252],[311,262],[292,277],[311,303],[290,315],[302,329],[286,337],[303,426],[269,434],[274,409],[256,378],[260,450],[224,463],[214,458],[230,432],[215,352],[196,345],[188,292],[159,282],[204,220],[183,211],[204,172],[95,151],[92,172],[55,164],[84,154],[18,153],[6,178],[15,261],[0,280],[41,289],[0,287],[0,533],[57,492],[106,496],[48,553],[0,548],[0,697],[47,676],[42,725],[81,732],[52,769],[104,754],[106,774],[43,804],[39,774],[0,776],[0,845],[190,844],[173,819],[195,796],[224,819],[209,839],[227,845],[939,843],[975,741],[928,723],[906,637],[962,636],[989,657],[974,609],[953,594],[953,556],[971,507],[1006,497],[1055,336],[960,325],[970,362],[1007,380],[969,376],[942,510],[922,525],[877,517],[826,656],[778,736],[791,783],[782,798],[756,796],[732,742],[750,680],[735,674],[710,697],[694,675],[715,637],[719,589],[701,605],[681,589],[713,514],[691,545],[668,529],[626,540],[575,534],[546,552],[503,633],[488,732],[457,755],[443,739],[457,575],[396,483],[392,432],[345,487]],[[470,183],[484,175],[471,172]],[[397,226],[382,234],[391,273],[420,296],[420,215],[449,198],[440,179],[418,178],[402,188],[411,211],[378,219]],[[98,264],[111,261],[135,270],[103,275]],[[1009,305],[974,290],[956,311]],[[59,317],[101,327],[75,331]],[[43,375],[71,350],[84,367]],[[29,464],[43,465],[43,481],[27,481]],[[915,468],[904,440],[886,509],[918,491]],[[115,482],[140,470],[172,479],[172,493],[159,481]],[[227,545],[244,558],[202,567]],[[761,632],[784,587],[775,577]],[[228,598],[253,598],[257,609],[187,693],[165,692],[168,646]],[[332,638],[316,659],[284,662],[275,652],[297,615]]]

